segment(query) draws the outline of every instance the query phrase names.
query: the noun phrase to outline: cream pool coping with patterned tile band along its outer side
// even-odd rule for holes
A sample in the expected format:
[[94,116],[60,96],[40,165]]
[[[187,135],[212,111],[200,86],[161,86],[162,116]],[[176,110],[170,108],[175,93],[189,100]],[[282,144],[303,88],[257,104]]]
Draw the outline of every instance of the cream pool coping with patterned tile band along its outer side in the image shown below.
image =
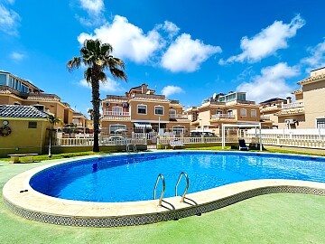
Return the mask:
[[[99,156],[83,158],[91,157]],[[5,183],[3,189],[5,205],[17,215],[32,221],[70,226],[116,227],[178,220],[269,193],[325,195],[325,183],[265,179],[230,183],[202,192],[189,193],[186,195],[185,202],[181,202],[181,196],[164,198],[163,206],[158,206],[158,200],[141,202],[64,200],[36,192],[30,186],[29,180],[33,174],[53,165],[74,160],[76,159],[43,165],[14,176]]]

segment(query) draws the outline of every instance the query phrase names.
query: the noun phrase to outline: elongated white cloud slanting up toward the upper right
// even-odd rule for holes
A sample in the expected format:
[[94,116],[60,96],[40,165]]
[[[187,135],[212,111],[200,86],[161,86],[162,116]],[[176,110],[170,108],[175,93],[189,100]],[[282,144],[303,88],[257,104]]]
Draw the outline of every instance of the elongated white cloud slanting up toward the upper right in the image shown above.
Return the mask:
[[277,50],[288,47],[288,40],[296,35],[297,30],[302,28],[305,21],[298,14],[291,23],[275,21],[266,27],[260,33],[255,34],[253,38],[243,37],[240,42],[242,53],[231,56],[228,60],[220,60],[219,64],[226,64],[234,61],[261,61],[265,57],[274,55]]

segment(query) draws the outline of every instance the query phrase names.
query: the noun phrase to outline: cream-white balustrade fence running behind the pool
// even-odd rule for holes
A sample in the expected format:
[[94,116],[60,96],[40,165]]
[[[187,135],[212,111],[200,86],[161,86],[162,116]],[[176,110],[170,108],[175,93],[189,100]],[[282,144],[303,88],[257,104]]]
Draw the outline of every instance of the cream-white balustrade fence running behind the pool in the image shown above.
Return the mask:
[[[249,129],[245,133],[226,136],[226,144],[238,142],[238,135],[245,138],[246,143],[259,142],[259,129]],[[118,136],[99,136],[99,145],[146,145],[148,135],[134,134],[133,138]],[[262,129],[262,143],[264,145],[284,145],[293,147],[307,147],[325,149],[325,129]],[[155,137],[155,136],[154,136]],[[216,144],[220,145],[222,138],[218,136],[205,137],[175,137],[160,136],[157,138],[157,144],[169,145],[172,140],[177,138],[183,144]],[[60,138],[56,140],[56,145],[93,145],[94,138]]]

